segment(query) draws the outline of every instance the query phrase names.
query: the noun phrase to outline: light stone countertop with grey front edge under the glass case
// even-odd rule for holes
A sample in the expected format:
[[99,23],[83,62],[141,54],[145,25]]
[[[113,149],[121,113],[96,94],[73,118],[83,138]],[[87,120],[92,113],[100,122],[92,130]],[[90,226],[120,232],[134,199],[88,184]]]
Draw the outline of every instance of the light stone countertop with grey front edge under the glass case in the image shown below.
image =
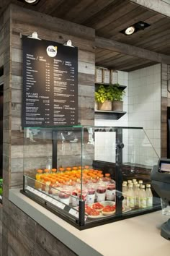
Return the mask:
[[161,211],[79,231],[19,189],[9,191],[9,200],[79,256],[170,255],[170,242],[160,235],[168,216],[162,216]]

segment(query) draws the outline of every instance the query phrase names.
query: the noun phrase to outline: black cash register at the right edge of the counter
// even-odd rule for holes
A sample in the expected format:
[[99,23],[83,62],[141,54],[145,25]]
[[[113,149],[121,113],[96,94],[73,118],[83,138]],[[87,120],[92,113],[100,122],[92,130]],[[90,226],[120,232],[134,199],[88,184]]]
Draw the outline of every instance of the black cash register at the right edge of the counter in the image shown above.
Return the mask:
[[[170,205],[170,159],[161,158],[151,171],[151,183],[157,194]],[[170,240],[170,218],[161,226],[161,236]]]

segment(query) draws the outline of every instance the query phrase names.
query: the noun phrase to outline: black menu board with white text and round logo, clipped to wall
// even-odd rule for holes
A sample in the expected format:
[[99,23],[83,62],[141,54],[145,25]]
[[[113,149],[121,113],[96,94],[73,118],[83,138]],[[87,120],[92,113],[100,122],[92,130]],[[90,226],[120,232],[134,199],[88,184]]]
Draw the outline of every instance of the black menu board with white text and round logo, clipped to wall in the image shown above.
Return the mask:
[[78,123],[78,48],[22,37],[22,127]]

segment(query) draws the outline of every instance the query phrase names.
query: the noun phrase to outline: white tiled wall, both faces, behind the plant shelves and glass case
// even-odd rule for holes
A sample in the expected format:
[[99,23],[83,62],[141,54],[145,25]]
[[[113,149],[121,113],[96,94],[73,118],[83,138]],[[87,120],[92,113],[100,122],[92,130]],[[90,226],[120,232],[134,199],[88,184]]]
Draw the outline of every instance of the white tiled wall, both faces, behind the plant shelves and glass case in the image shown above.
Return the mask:
[[[118,71],[118,82],[127,86],[123,98],[123,111],[127,114],[117,121],[95,120],[95,125],[143,127],[147,137],[140,130],[123,131],[123,162],[153,165],[161,155],[161,64],[133,72]],[[98,160],[114,162],[115,155],[109,150],[110,145],[115,145],[115,137],[111,140],[109,136],[109,133],[99,136],[99,140],[103,140],[99,149],[97,148],[100,142],[95,141],[95,157]],[[105,140],[109,140],[109,150],[104,143]]]

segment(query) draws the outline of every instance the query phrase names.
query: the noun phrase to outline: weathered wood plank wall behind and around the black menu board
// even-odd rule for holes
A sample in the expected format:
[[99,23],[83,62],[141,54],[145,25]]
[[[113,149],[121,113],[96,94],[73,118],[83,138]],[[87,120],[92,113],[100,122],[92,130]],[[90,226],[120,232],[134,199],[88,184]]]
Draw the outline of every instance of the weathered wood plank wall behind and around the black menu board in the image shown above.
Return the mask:
[[[12,64],[12,148],[11,186],[22,185],[23,175],[23,135],[20,132],[22,114],[22,35],[36,31],[45,40],[64,43],[71,39],[79,48],[79,123],[94,124],[94,30],[71,22],[65,22],[45,14],[32,12],[12,5],[11,64]],[[37,145],[38,146],[38,145]],[[50,145],[49,145],[50,147]],[[36,149],[32,164],[37,162]],[[49,151],[51,152],[51,150]],[[44,150],[46,154],[46,150]],[[45,155],[44,155],[45,156]],[[42,157],[42,166],[45,158]],[[35,161],[34,161],[35,159]],[[30,159],[28,159],[27,163]],[[66,158],[63,158],[66,160]],[[71,160],[71,162],[73,162]],[[63,163],[66,165],[66,163]],[[35,165],[35,168],[37,166]]]

